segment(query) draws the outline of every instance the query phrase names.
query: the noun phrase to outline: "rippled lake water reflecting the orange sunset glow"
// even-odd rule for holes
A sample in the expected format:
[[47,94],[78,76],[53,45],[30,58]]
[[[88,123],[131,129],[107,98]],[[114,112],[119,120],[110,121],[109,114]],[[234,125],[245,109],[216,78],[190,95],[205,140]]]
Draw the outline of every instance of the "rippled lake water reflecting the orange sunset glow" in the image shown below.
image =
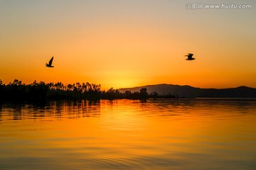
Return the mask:
[[256,100],[1,103],[0,169],[256,169]]

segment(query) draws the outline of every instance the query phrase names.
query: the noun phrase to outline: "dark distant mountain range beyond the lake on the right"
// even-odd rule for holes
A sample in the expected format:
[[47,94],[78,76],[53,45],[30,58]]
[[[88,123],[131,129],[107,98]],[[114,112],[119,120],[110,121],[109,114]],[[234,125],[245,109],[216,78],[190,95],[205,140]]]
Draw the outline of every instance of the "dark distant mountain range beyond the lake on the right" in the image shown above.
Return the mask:
[[236,88],[228,89],[201,89],[193,86],[179,86],[173,84],[156,84],[156,85],[146,85],[138,86],[133,88],[123,88],[118,89],[120,92],[125,91],[139,91],[140,89],[146,87],[147,92],[151,94],[156,92],[161,96],[174,95],[184,98],[256,98],[256,89],[239,86]]

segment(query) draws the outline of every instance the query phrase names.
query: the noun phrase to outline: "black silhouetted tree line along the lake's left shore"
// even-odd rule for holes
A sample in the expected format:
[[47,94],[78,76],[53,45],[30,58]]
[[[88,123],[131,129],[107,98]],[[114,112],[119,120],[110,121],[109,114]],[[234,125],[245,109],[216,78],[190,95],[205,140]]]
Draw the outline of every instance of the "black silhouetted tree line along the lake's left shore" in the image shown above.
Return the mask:
[[117,89],[102,91],[100,84],[75,83],[63,84],[45,83],[33,81],[32,84],[23,84],[15,79],[12,83],[3,84],[0,80],[0,101],[41,101],[41,100],[63,100],[63,99],[139,99],[147,98],[175,98],[173,95],[159,96],[156,92],[148,94],[146,88],[139,91],[120,92]]

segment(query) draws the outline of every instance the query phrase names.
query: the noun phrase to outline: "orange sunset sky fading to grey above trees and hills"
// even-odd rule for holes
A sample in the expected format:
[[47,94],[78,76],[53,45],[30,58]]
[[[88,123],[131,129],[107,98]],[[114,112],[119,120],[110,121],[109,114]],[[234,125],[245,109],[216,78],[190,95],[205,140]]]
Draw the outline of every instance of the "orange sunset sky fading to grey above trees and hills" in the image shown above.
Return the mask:
[[[188,3],[252,8],[188,9]],[[256,87],[255,0],[0,0],[0,21],[5,84]],[[185,60],[188,52],[196,60]]]

